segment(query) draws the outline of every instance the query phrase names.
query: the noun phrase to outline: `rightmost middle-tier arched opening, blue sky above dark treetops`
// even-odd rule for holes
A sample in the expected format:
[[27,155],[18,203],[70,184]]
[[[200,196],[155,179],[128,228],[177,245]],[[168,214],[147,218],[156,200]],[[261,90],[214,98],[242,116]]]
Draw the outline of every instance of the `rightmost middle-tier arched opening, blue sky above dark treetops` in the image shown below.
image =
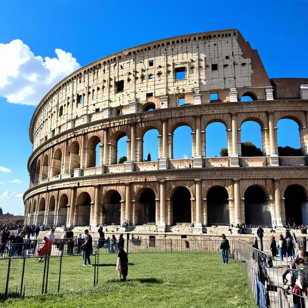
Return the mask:
[[302,156],[298,128],[298,123],[294,120],[280,119],[278,121],[277,143],[279,156]]

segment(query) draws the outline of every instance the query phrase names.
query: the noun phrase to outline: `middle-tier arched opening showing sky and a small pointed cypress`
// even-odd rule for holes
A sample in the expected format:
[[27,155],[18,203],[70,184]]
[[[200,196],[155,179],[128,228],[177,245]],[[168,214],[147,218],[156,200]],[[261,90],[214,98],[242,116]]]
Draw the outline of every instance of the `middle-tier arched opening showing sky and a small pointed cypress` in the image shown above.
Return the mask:
[[[143,135],[143,149],[141,153],[141,161],[156,161],[158,160],[158,138],[159,132],[157,129],[149,129]],[[140,151],[137,151],[140,153]],[[148,155],[150,153],[150,156]],[[139,154],[140,155],[140,154]]]

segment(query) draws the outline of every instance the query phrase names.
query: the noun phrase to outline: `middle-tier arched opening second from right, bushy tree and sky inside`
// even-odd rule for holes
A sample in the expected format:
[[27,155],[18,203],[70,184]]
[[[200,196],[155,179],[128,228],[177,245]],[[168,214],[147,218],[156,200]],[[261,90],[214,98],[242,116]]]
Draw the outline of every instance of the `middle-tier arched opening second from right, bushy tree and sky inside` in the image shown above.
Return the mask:
[[261,126],[256,121],[248,120],[241,125],[241,156],[263,156]]

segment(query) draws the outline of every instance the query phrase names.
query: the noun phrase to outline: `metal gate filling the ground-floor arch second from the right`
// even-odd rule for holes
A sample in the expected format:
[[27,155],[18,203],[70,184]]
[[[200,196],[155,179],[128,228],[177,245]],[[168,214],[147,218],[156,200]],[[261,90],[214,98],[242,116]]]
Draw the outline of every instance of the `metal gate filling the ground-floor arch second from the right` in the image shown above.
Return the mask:
[[245,204],[245,223],[252,226],[272,227],[270,203]]

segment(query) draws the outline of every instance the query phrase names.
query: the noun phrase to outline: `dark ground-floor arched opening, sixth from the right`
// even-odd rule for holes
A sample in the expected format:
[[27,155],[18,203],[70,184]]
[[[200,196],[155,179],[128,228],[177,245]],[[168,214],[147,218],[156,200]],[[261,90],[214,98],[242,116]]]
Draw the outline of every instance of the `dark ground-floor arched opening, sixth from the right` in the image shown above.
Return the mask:
[[104,196],[106,210],[106,225],[120,225],[121,221],[121,195],[116,190],[109,190]]

